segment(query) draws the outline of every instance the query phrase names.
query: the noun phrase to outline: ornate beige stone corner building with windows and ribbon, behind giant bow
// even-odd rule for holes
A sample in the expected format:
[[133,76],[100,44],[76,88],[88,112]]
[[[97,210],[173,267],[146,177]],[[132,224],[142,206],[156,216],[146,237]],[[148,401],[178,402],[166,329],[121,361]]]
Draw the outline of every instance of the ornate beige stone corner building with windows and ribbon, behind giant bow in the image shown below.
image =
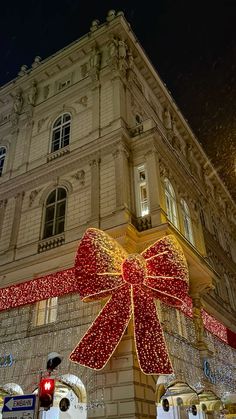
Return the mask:
[[[45,417],[236,417],[236,207],[121,12],[1,88],[0,199],[2,398],[57,351]],[[71,273],[89,227],[128,253],[181,244],[189,305],[156,302],[173,374],[140,370],[132,323],[104,369],[69,360],[103,306]]]

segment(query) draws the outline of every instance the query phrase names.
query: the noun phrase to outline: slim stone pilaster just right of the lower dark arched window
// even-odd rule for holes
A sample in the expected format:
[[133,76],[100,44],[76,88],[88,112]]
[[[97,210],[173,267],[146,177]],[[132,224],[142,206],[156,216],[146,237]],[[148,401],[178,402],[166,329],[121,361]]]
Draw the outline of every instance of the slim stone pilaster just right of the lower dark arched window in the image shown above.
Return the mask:
[[100,158],[90,161],[91,170],[91,219],[90,225],[100,228]]

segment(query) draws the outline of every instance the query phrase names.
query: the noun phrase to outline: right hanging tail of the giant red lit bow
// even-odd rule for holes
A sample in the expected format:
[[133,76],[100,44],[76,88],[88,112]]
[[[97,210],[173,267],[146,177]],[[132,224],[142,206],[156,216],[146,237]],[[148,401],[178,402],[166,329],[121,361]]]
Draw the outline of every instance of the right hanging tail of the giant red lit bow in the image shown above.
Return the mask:
[[171,374],[164,335],[153,297],[140,286],[133,286],[134,336],[141,370],[145,374]]

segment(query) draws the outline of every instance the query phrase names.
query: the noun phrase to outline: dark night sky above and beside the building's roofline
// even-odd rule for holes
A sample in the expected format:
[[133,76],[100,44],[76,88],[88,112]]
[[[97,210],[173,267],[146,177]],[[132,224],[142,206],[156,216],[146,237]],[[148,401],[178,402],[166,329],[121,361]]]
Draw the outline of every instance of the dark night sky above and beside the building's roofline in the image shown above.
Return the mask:
[[0,10],[0,85],[123,10],[236,199],[236,0],[8,0]]

